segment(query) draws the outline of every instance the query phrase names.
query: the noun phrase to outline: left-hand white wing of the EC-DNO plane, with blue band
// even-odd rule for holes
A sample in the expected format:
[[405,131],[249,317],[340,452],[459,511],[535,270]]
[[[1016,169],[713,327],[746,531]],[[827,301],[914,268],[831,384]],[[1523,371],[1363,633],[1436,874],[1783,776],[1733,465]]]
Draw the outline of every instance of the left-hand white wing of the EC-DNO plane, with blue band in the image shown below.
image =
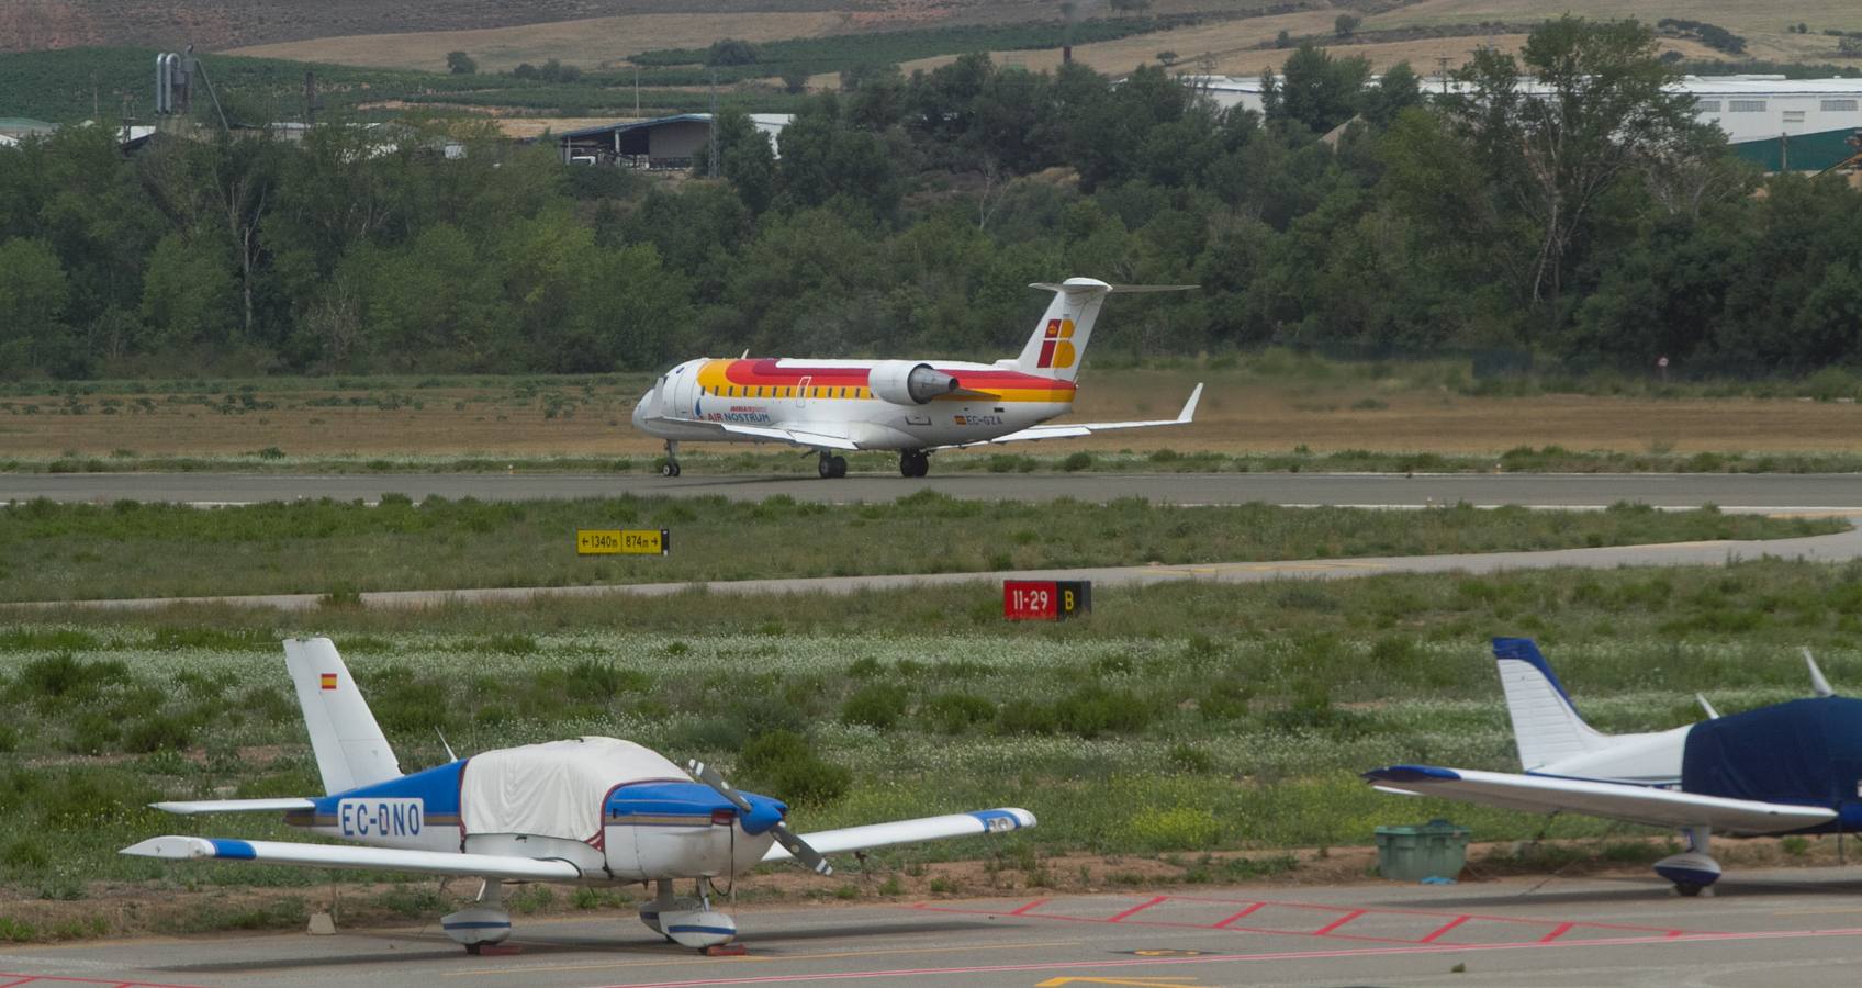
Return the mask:
[[300,845],[290,841],[229,841],[220,837],[149,837],[117,854],[164,858],[169,861],[264,861],[270,865],[341,867],[363,871],[423,871],[426,875],[464,875],[570,882],[581,869],[560,860],[518,858],[510,854],[447,854],[443,850],[397,850],[356,845]]

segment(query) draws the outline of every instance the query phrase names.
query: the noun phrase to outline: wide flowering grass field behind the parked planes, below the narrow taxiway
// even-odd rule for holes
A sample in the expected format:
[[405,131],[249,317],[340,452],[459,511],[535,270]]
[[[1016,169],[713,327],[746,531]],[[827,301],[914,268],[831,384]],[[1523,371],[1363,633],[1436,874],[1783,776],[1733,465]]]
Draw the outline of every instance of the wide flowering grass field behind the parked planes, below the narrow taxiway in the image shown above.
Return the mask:
[[[443,757],[434,728],[460,752],[587,731],[715,759],[743,785],[791,798],[803,830],[1033,809],[1041,826],[1013,841],[868,865],[875,882],[961,895],[1078,886],[1052,873],[1078,854],[1106,884],[1140,861],[1169,863],[1164,880],[1238,880],[1296,867],[1272,854],[1363,845],[1376,824],[1430,815],[1480,841],[1531,837],[1540,817],[1393,800],[1354,774],[1396,761],[1512,767],[1490,634],[1538,636],[1605,731],[1691,722],[1694,690],[1724,713],[1804,696],[1799,646],[1843,688],[1862,679],[1858,579],[1856,567],[1765,560],[1199,584],[1106,594],[1089,620],[1052,627],[985,616],[987,588],[730,607],[687,595],[627,608],[56,614],[0,631],[0,908],[30,938],[184,928],[182,917],[192,928],[290,927],[331,882],[361,882],[114,854],[156,832],[289,837],[263,819],[143,808],[315,793],[276,644],[287,634],[335,636],[406,767]],[[804,744],[750,744],[778,731]],[[1598,841],[1575,856],[1659,852],[1622,843],[1648,830],[1601,821],[1560,817],[1549,834]],[[1235,858],[1212,867],[1208,850],[1268,863],[1223,871]],[[976,854],[991,854],[970,873],[987,886],[933,869],[927,888],[924,861]],[[801,882],[803,893],[840,895]],[[430,882],[367,895],[344,902],[423,917],[445,902]],[[151,906],[125,914],[125,901]],[[73,914],[102,919],[48,919]]]

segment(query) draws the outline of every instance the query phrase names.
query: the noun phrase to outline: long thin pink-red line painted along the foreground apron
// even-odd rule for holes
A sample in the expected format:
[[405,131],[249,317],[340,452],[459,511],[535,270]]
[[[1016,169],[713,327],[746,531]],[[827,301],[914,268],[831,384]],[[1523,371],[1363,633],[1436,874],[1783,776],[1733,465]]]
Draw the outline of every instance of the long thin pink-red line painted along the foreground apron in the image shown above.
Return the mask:
[[1201,956],[1145,956],[1132,960],[1045,960],[1035,964],[996,964],[996,966],[976,966],[976,968],[892,968],[875,971],[834,971],[834,973],[795,973],[795,975],[752,975],[752,977],[717,977],[717,979],[681,979],[681,981],[657,981],[657,982],[635,982],[629,988],[691,988],[698,984],[782,984],[782,982],[804,982],[804,981],[862,981],[862,979],[883,979],[883,977],[927,977],[927,975],[983,975],[983,973],[1009,973],[1009,971],[1059,971],[1059,969],[1080,969],[1082,966],[1091,968],[1134,968],[1134,966],[1162,966],[1162,964],[1242,964],[1249,960],[1333,960],[1333,958],[1352,958],[1352,956],[1402,956],[1402,955],[1449,955],[1449,953],[1473,953],[1473,951],[1542,951],[1542,949],[1562,949],[1562,947],[1620,947],[1620,945],[1644,945],[1644,943],[1715,943],[1728,940],[1802,940],[1819,936],[1862,936],[1862,928],[1849,930],[1763,930],[1763,932],[1709,932],[1709,934],[1681,934],[1678,938],[1668,936],[1620,936],[1611,940],[1568,940],[1568,941],[1521,941],[1521,943],[1411,943],[1408,947],[1352,947],[1339,951],[1275,951],[1264,955],[1201,955]]

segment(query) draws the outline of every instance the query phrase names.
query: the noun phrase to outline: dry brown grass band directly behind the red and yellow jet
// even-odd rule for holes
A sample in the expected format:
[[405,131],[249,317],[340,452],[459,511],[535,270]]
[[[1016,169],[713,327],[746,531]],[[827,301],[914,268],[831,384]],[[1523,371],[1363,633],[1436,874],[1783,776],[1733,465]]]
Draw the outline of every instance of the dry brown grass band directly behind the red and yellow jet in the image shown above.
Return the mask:
[[[1862,452],[1862,407],[1855,404],[1754,398],[1596,398],[1545,394],[1527,398],[1465,396],[1445,389],[1389,381],[1264,383],[1238,370],[1093,370],[1087,368],[1074,419],[1166,419],[1190,387],[1208,387],[1188,428],[1108,434],[1028,447],[1043,454],[1071,450],[1378,452],[1495,454],[1512,447],[1560,445],[1614,452]],[[302,387],[302,389],[298,389]],[[166,404],[155,411],[101,415],[106,394],[88,396],[86,415],[58,413],[56,398],[13,398],[0,409],[0,448],[19,458],[231,456],[276,447],[289,456],[650,456],[659,443],[633,432],[629,413],[644,380],[626,378],[590,393],[560,385],[577,400],[573,415],[546,415],[544,396],[519,396],[514,381],[452,387],[398,387],[421,407],[350,406],[374,402],[395,385],[335,389],[290,385],[257,396],[268,411],[225,415],[199,404]],[[544,385],[547,394],[551,385]],[[134,394],[117,394],[125,407]],[[339,407],[313,400],[337,398]],[[39,404],[35,415],[20,413]],[[1354,407],[1357,406],[1357,407]],[[1382,407],[1378,407],[1382,406]],[[566,406],[564,406],[566,407]],[[722,447],[711,447],[722,448]],[[953,452],[946,456],[991,456]]]

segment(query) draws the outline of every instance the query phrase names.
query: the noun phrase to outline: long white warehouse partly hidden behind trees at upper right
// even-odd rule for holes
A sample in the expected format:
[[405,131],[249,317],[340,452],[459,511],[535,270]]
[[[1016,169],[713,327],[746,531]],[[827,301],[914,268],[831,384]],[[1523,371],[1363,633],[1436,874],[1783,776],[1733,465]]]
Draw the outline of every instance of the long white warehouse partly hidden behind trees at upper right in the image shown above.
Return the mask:
[[[1223,108],[1261,112],[1261,76],[1182,78]],[[1443,82],[1423,87],[1441,91]],[[1683,76],[1678,89],[1694,97],[1696,119],[1720,125],[1741,156],[1771,171],[1821,171],[1856,153],[1849,140],[1862,130],[1862,78]]]

